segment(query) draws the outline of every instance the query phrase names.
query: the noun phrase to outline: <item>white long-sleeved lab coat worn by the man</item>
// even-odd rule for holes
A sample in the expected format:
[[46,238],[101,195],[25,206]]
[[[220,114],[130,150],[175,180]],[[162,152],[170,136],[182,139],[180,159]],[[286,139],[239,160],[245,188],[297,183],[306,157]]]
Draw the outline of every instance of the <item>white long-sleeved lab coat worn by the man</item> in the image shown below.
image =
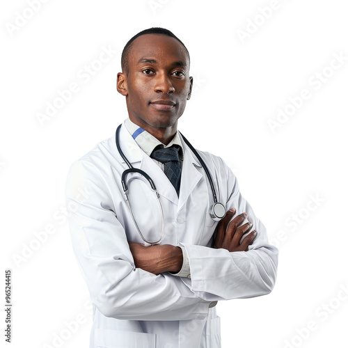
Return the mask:
[[[127,241],[142,239],[122,191],[120,176],[128,167],[118,153],[115,136],[70,168],[66,197],[72,246],[94,308],[90,347],[218,348],[220,318],[209,303],[260,296],[274,287],[277,249],[268,244],[266,230],[239,193],[232,171],[219,157],[199,152],[212,175],[218,200],[227,209],[235,207],[237,214],[247,212],[248,221],[258,231],[248,252],[210,247],[216,228],[208,211],[214,201],[212,190],[203,167],[184,141],[182,144],[184,162],[177,198],[164,172],[139,148],[125,125],[120,130],[127,159],[157,185],[164,209],[162,244],[185,246],[191,279],[168,273],[155,276],[134,267]],[[139,200],[147,199],[141,187],[133,194]],[[152,217],[146,205],[141,214],[136,216],[140,220],[160,219]]]

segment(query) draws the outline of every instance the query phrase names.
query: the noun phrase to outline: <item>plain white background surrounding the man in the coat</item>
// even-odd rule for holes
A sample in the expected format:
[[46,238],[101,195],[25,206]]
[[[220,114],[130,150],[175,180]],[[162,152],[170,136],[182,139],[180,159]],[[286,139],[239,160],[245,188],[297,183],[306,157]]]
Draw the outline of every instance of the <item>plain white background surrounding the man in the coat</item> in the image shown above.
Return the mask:
[[[59,335],[62,347],[88,347],[89,296],[63,212],[65,178],[72,161],[127,118],[116,91],[120,51],[151,26],[173,31],[191,54],[196,87],[180,130],[226,160],[280,251],[274,292],[218,304],[223,347],[344,347],[347,3],[40,4],[33,13],[29,1],[1,3],[1,272],[4,283],[4,270],[13,270],[11,347],[58,347]],[[113,53],[100,64],[102,47]],[[97,69],[93,76],[86,65]],[[40,122],[38,113],[72,83],[78,91]],[[287,106],[303,89],[310,97]],[[292,115],[272,132],[269,120],[278,122],[286,107]],[[49,228],[50,235],[42,232]],[[39,232],[47,235],[42,243]],[[312,331],[303,329],[308,322]]]

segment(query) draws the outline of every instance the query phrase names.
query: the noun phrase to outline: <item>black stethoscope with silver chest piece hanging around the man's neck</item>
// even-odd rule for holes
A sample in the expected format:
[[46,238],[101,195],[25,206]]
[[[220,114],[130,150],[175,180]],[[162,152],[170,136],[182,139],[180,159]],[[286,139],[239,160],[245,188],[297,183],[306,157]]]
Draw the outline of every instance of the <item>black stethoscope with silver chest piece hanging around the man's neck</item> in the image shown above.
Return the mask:
[[[157,192],[155,183],[153,182],[151,177],[147,173],[145,173],[144,171],[141,171],[141,169],[134,168],[134,166],[132,166],[132,164],[130,164],[130,162],[128,161],[127,157],[125,157],[125,155],[123,154],[123,152],[122,152],[122,150],[120,148],[120,129],[121,129],[121,126],[122,125],[119,125],[117,127],[117,129],[116,129],[116,147],[117,147],[117,150],[120,153],[120,156],[122,157],[122,159],[125,161],[127,166],[129,166],[129,169],[126,169],[122,173],[122,177],[121,177],[122,188],[123,188],[123,191],[125,191],[127,205],[129,207],[129,211],[131,212],[132,219],[134,221],[136,229],[138,230],[139,235],[143,239],[143,241],[145,243],[147,243],[147,244],[150,244],[150,245],[159,244],[159,242],[161,242],[161,240],[163,238],[163,233],[164,233],[164,213],[163,213],[161,201],[159,200],[159,193]],[[210,173],[208,171],[208,168],[205,165],[205,162],[203,161],[202,157],[200,157],[200,155],[198,154],[196,149],[193,148],[191,143],[189,143],[189,141],[181,133],[180,133],[180,135],[182,136],[182,139],[184,139],[184,142],[187,143],[187,145],[189,146],[191,151],[196,155],[198,161],[200,162],[200,165],[203,166],[205,174],[207,175],[207,178],[209,180],[210,187],[212,188],[212,193],[213,193],[213,198],[214,198],[214,204],[212,204],[209,207],[209,214],[210,214],[210,216],[212,217],[212,219],[214,221],[219,221],[219,220],[221,220],[223,218],[223,216],[226,215],[226,207],[222,203],[219,203],[217,198],[216,198],[216,191],[215,191],[215,187],[214,187],[214,183],[213,183],[212,177],[211,177],[211,175],[210,175]],[[139,173],[139,174],[143,175],[143,177],[145,177],[145,179],[148,180],[152,191],[154,191],[155,194],[156,194],[157,203],[158,203],[159,209],[161,211],[161,237],[157,241],[149,242],[147,239],[145,239],[145,237],[141,233],[141,230],[139,229],[138,224],[136,223],[136,220],[135,220],[134,214],[133,214],[133,210],[132,210],[132,207],[131,207],[131,205],[129,203],[129,197],[128,197],[128,185],[127,185],[127,182],[126,182],[126,177],[127,177],[127,175],[129,173]]]

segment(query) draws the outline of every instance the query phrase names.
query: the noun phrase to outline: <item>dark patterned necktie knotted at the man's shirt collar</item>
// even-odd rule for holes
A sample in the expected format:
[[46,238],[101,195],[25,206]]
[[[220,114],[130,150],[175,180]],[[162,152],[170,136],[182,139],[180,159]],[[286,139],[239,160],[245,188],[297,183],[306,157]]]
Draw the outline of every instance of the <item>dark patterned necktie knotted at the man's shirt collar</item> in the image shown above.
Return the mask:
[[163,145],[157,145],[155,150],[150,155],[151,158],[164,164],[164,174],[167,175],[170,182],[175,187],[177,196],[180,191],[180,161],[179,161],[180,145],[171,145],[169,148],[164,148]]

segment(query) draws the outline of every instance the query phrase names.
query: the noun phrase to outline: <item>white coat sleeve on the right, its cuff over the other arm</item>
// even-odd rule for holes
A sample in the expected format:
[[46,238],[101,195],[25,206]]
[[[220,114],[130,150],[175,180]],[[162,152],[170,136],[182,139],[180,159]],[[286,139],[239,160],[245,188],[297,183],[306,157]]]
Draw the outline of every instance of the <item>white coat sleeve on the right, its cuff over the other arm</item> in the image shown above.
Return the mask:
[[[220,159],[220,161],[222,161]],[[209,301],[242,299],[269,294],[276,281],[278,250],[269,244],[267,231],[242,197],[237,178],[223,163],[227,177],[228,202],[226,209],[236,214],[246,212],[258,232],[248,251],[230,253],[226,249],[184,244],[189,256],[191,279],[182,278],[190,290]]]

